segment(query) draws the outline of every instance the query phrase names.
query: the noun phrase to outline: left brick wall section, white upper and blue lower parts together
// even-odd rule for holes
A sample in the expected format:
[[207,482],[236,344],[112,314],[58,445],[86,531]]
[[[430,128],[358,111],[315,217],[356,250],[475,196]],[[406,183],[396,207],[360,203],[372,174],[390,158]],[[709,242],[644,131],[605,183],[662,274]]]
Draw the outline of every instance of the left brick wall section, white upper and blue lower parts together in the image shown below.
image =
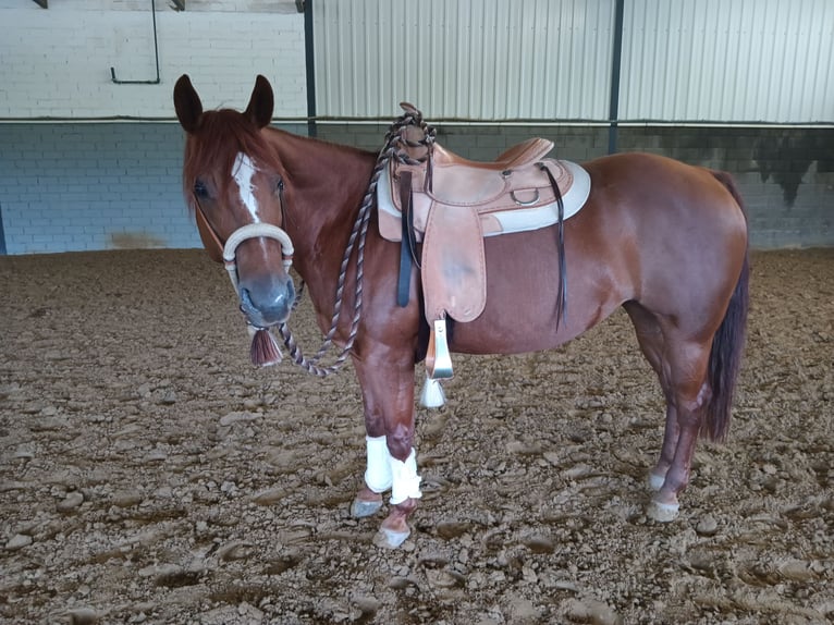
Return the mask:
[[[183,73],[207,109],[244,108],[261,73],[277,119],[306,115],[294,1],[170,4],[156,1],[160,84],[118,85],[111,66],[120,79],[156,77],[150,2],[0,0],[0,253],[199,246],[173,123]],[[158,122],[109,122],[125,117]],[[41,119],[63,121],[29,123]]]

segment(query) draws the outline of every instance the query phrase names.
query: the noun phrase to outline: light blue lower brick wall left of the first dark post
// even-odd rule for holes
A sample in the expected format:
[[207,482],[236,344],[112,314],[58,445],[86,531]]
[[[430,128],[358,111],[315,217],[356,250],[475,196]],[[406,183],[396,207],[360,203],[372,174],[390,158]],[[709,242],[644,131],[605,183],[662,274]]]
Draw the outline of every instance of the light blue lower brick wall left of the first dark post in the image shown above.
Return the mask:
[[0,146],[8,254],[201,245],[179,124],[0,124]]

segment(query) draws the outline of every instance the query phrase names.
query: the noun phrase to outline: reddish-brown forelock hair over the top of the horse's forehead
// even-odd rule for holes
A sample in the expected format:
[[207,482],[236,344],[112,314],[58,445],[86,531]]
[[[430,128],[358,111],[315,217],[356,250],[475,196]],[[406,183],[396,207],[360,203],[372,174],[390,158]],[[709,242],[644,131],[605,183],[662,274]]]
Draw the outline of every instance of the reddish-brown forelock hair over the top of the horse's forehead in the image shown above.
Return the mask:
[[240,152],[247,154],[262,169],[281,171],[281,163],[274,149],[260,134],[260,128],[244,114],[232,109],[206,111],[200,118],[199,128],[188,136],[183,159],[183,195],[192,211],[194,185],[199,175],[219,172],[218,192],[225,193],[231,181],[228,175]]

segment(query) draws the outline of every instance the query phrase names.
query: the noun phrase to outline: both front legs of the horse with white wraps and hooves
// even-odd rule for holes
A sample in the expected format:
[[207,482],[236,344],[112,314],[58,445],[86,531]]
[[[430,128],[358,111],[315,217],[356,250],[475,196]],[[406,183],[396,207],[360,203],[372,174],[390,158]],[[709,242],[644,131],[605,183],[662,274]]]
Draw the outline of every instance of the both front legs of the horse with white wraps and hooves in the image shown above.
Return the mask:
[[420,477],[414,449],[413,356],[384,352],[354,359],[365,404],[367,467],[351,513],[376,514],[390,490],[391,510],[376,542],[395,548],[410,534],[408,516],[420,498]]

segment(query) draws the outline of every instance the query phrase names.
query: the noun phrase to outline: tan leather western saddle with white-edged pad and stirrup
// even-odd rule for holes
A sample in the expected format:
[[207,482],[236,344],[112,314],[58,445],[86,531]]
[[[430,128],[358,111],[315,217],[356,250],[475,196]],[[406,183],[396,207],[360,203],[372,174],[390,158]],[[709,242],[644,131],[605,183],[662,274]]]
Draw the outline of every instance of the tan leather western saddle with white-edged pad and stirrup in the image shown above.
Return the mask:
[[379,228],[384,238],[401,242],[401,306],[408,304],[413,265],[420,268],[431,330],[428,375],[432,380],[451,378],[445,321],[446,317],[471,321],[483,311],[485,236],[557,224],[556,318],[563,318],[567,289],[563,223],[585,203],[590,179],[575,163],[544,159],[553,142],[543,138],[527,139],[495,161],[465,159],[434,140],[436,131],[419,110],[408,103],[401,107],[405,114],[388,135],[387,146],[394,146],[392,158],[377,186]]

